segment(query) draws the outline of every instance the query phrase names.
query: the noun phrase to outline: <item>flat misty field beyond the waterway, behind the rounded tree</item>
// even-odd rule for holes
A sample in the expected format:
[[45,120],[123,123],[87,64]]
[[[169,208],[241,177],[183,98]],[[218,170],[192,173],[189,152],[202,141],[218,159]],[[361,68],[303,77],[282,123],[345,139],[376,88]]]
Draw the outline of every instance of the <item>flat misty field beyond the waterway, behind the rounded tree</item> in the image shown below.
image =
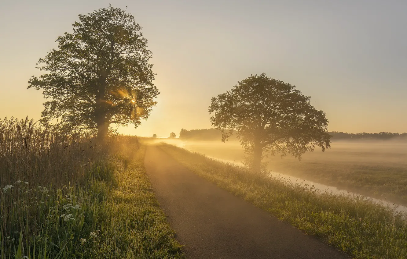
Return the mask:
[[[237,141],[165,141],[227,162],[242,160]],[[274,172],[407,205],[407,142],[336,141],[331,147],[306,153],[301,161],[288,156],[265,160]]]

